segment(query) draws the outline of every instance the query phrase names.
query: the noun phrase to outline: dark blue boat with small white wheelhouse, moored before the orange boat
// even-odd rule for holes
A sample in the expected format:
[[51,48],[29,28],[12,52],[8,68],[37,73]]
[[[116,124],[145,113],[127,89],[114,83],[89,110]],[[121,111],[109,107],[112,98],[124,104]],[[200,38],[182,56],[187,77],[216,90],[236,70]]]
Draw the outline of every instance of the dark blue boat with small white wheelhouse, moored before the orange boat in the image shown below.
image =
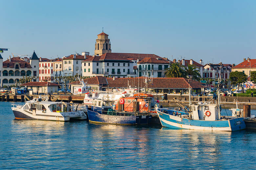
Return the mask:
[[113,110],[114,101],[93,99],[92,106],[86,107],[88,118],[93,123],[143,125],[148,124],[151,115],[148,113]]

